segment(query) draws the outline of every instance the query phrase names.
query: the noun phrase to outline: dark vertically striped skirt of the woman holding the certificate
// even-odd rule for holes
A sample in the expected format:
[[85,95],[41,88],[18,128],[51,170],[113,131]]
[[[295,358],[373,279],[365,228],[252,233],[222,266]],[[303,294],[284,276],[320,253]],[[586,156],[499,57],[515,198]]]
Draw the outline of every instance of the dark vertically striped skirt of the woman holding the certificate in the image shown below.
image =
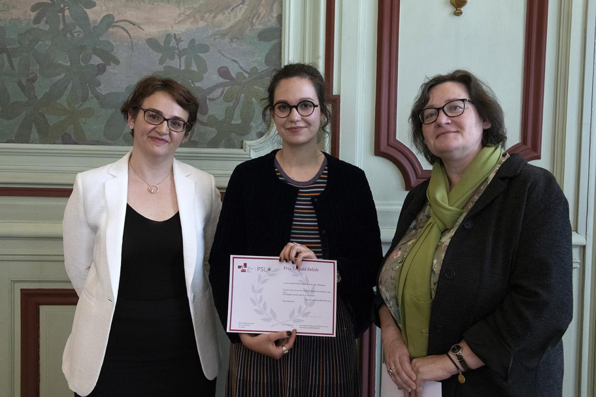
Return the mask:
[[336,337],[296,336],[290,352],[275,360],[230,346],[226,395],[232,397],[358,397],[356,341],[346,305],[337,299]]

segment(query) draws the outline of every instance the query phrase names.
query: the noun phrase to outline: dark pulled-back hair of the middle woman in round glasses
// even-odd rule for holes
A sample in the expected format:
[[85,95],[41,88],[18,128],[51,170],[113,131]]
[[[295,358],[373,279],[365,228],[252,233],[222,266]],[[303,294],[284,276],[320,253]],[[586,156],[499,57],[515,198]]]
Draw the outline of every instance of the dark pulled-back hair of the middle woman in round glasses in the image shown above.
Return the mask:
[[273,105],[275,105],[275,89],[280,84],[280,81],[291,79],[292,77],[303,77],[311,82],[315,89],[317,100],[319,101],[319,109],[324,117],[321,121],[321,131],[326,133],[325,128],[331,121],[331,111],[327,103],[325,80],[316,67],[307,64],[287,64],[276,71],[273,77],[271,77],[271,82],[269,82],[269,87],[267,87],[267,98],[263,98],[263,102],[265,102],[263,111],[261,112],[263,121],[266,124],[269,124],[271,121],[271,110],[273,109]]

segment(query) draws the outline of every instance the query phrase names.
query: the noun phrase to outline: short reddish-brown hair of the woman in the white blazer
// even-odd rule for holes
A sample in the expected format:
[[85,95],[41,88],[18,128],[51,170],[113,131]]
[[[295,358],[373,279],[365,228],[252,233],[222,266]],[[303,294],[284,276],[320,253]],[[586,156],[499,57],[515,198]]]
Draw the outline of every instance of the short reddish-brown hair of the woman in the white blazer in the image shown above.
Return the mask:
[[[129,114],[136,117],[143,101],[158,91],[168,93],[179,107],[188,112],[188,126],[184,132],[184,136],[188,136],[197,120],[198,99],[187,87],[166,77],[145,76],[136,83],[135,89],[120,107],[125,120],[128,119]],[[131,135],[135,135],[134,130],[131,130]]]

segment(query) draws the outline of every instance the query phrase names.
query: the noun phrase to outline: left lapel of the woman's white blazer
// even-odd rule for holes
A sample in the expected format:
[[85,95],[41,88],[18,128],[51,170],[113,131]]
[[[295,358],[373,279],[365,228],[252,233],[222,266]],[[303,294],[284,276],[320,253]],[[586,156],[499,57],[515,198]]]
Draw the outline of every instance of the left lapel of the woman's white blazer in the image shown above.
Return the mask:
[[104,184],[105,207],[107,209],[105,220],[105,254],[110,273],[110,282],[114,302],[118,295],[120,282],[120,265],[122,262],[122,235],[124,233],[124,220],[126,217],[126,201],[128,198],[128,159],[131,152],[125,157],[114,162],[108,168],[110,179]]

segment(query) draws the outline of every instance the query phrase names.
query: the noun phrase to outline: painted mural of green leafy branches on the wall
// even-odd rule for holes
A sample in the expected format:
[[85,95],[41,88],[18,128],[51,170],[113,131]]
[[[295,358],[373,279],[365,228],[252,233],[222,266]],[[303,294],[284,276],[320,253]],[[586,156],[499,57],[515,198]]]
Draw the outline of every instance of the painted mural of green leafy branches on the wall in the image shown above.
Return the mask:
[[184,146],[240,148],[280,60],[281,0],[7,0],[0,142],[130,145],[120,105],[159,74],[200,101]]

